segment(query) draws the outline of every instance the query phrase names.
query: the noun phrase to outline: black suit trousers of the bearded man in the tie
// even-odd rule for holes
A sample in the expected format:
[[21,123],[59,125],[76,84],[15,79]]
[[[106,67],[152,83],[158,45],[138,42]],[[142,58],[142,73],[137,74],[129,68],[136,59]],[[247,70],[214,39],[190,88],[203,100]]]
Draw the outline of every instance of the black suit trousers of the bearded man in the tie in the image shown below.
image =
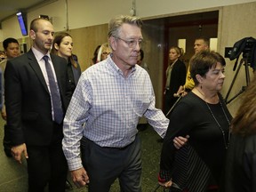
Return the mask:
[[28,192],[64,192],[68,164],[62,151],[62,126],[54,124],[52,142],[49,146],[27,145]]

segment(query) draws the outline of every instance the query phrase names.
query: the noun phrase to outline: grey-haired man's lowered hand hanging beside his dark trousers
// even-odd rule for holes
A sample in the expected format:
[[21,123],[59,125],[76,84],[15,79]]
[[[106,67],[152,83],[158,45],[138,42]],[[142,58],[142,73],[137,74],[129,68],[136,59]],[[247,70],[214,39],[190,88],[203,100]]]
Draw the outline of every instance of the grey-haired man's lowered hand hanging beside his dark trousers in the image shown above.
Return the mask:
[[76,184],[77,188],[81,188],[85,186],[87,183],[89,183],[89,177],[87,175],[87,172],[84,170],[84,167],[70,171],[71,173],[71,178],[73,182]]

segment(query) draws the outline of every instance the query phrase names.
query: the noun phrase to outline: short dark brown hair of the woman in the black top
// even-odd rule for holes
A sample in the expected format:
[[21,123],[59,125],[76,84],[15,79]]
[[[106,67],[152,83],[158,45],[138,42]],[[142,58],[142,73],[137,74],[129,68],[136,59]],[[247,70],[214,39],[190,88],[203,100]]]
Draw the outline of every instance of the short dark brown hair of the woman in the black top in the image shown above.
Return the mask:
[[219,52],[197,52],[189,61],[190,76],[195,84],[199,84],[196,75],[205,76],[211,68],[216,68],[217,62],[220,62],[221,66],[226,66],[226,61]]

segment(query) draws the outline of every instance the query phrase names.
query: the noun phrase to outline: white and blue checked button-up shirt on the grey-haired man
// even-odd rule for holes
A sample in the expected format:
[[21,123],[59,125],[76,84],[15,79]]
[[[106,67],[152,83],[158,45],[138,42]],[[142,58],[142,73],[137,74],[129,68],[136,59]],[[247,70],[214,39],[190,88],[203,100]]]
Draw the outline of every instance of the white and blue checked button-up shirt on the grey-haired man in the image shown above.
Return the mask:
[[64,119],[62,144],[69,170],[82,167],[83,136],[101,147],[123,148],[135,139],[140,116],[164,137],[169,120],[155,108],[153,86],[145,69],[136,65],[124,77],[110,56],[86,69]]

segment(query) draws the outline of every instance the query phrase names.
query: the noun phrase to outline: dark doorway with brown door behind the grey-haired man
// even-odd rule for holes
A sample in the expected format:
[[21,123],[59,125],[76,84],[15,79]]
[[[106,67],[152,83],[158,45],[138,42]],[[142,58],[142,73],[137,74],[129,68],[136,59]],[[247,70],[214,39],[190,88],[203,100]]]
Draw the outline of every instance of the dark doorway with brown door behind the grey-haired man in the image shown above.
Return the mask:
[[[144,62],[156,94],[156,108],[164,106],[165,71],[169,64],[169,48],[185,40],[185,54],[180,58],[188,66],[194,54],[197,37],[218,38],[219,11],[197,12],[178,16],[144,20]],[[211,44],[210,44],[211,47]]]

